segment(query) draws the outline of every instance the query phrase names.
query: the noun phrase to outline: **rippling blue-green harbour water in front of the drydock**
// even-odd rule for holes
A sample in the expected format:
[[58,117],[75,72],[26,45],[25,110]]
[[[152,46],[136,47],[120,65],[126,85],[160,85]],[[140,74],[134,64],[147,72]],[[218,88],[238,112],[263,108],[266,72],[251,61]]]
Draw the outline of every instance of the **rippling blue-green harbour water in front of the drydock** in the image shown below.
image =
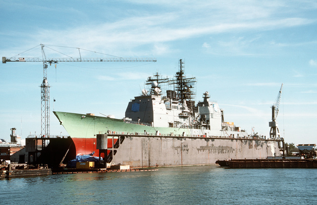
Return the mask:
[[0,204],[317,204],[317,169],[78,173],[0,180]]

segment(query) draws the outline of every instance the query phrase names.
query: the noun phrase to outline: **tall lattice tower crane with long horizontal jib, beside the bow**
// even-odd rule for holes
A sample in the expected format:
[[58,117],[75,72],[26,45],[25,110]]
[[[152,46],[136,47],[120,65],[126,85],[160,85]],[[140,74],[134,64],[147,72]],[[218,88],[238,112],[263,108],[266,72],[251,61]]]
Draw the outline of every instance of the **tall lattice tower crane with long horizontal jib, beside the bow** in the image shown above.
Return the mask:
[[[43,63],[43,82],[41,84],[41,137],[50,137],[50,84],[47,78],[48,64],[58,62],[144,62],[151,61],[156,62],[156,58],[123,58],[123,57],[111,57],[111,58],[82,58],[80,54],[80,48],[76,48],[79,51],[79,58],[47,58],[44,51],[44,44],[40,44],[42,51],[42,59],[38,57],[2,57],[2,63],[6,62],[42,62]],[[88,51],[88,50],[86,50]],[[94,51],[93,51],[94,52]]]

